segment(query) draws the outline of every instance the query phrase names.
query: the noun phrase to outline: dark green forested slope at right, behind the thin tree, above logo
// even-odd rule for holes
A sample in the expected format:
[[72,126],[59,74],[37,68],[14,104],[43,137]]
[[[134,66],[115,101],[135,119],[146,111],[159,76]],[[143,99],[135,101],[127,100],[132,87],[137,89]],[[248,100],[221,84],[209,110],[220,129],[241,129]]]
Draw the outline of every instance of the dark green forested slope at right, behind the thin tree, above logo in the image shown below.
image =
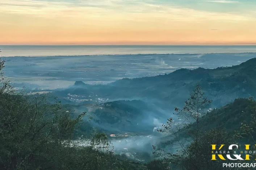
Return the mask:
[[[199,129],[203,133],[212,129],[221,129],[221,131],[234,136],[235,131],[240,132],[242,123],[245,122],[246,124],[250,124],[252,120],[251,115],[253,113],[252,106],[256,106],[256,101],[247,98],[235,99],[233,102],[228,103],[219,109],[213,109],[212,111],[207,112],[206,115],[202,116],[199,119]],[[172,116],[173,115],[170,115],[170,117]],[[188,131],[193,131],[193,129],[195,130],[196,128],[197,124],[194,122],[193,124],[190,124],[189,127],[186,127],[184,129],[185,131],[182,131],[181,129],[181,131],[177,132],[176,135],[179,140],[186,139],[186,141],[190,141],[191,139],[188,135]],[[176,138],[163,137],[160,145],[164,146],[167,143],[173,143],[175,141]]]

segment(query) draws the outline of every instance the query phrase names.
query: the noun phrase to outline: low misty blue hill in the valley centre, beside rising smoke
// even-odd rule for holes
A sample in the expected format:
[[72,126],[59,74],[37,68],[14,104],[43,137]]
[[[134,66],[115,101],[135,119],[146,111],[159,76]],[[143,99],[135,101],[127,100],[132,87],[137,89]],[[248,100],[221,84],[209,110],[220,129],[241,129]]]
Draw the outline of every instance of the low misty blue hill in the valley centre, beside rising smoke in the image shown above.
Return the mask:
[[167,118],[161,109],[139,100],[71,105],[71,107],[75,112],[86,110],[93,118],[90,123],[92,126],[111,133],[152,133],[155,126],[161,126],[160,120],[163,120],[163,123]]

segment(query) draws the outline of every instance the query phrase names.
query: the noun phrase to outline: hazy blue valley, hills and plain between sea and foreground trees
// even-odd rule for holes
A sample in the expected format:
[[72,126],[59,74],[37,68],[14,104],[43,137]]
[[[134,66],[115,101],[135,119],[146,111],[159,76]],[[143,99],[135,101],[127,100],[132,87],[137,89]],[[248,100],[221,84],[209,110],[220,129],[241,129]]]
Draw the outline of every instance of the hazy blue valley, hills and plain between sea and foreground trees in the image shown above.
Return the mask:
[[158,132],[167,118],[172,116],[176,124],[184,122],[173,114],[174,107],[182,107],[196,85],[213,100],[208,112],[236,98],[256,96],[252,90],[255,56],[151,54],[5,60],[6,74],[14,86],[25,86],[32,95],[58,97],[74,117],[86,111],[92,120],[84,120],[87,125],[80,128],[84,135],[104,132],[116,154],[142,162],[136,154],[144,153],[151,160],[152,145],[171,139]]

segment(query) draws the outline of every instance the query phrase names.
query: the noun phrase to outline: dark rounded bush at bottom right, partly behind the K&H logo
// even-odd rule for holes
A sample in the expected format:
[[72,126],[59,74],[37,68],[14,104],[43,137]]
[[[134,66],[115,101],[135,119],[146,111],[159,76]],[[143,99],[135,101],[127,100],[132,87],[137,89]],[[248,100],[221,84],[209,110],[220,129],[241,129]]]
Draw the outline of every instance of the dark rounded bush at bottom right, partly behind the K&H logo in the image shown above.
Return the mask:
[[[179,150],[172,154],[171,162],[177,169],[184,170],[221,170],[222,163],[228,163],[228,160],[211,160],[211,144],[233,144],[232,138],[219,129],[211,130],[200,136],[198,142],[192,142],[187,145],[185,150]],[[224,147],[226,147],[224,146]],[[223,148],[224,150],[228,148]],[[232,169],[232,168],[231,168]]]

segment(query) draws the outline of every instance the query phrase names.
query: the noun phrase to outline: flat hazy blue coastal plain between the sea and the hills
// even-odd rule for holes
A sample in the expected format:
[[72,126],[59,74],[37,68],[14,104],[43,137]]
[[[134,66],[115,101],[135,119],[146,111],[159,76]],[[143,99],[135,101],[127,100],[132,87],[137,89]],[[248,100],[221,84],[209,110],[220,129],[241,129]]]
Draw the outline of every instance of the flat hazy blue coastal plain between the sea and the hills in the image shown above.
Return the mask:
[[67,88],[75,81],[107,84],[122,78],[164,75],[177,69],[217,68],[256,58],[254,53],[140,54],[51,57],[3,57],[15,86]]

